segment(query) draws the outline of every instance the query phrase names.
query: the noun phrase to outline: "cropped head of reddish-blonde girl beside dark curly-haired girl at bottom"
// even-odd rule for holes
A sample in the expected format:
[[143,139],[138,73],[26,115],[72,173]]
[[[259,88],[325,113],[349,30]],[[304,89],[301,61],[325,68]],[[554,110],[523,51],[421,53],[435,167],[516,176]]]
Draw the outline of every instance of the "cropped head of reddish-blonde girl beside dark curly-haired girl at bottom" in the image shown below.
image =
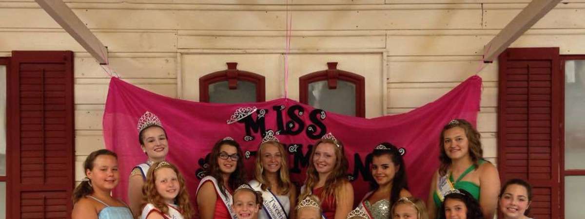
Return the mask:
[[415,197],[401,197],[390,210],[393,219],[429,219],[425,203]]

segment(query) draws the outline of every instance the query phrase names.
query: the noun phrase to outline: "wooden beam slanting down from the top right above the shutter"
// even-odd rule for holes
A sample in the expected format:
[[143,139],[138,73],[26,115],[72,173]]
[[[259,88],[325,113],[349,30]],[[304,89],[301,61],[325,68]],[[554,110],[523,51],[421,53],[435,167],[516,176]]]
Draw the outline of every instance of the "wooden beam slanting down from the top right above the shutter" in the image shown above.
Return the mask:
[[514,43],[518,37],[522,36],[526,30],[534,25],[538,20],[546,15],[551,9],[555,8],[557,4],[562,0],[532,0],[522,9],[518,15],[514,17],[498,33],[494,39],[491,39],[484,49],[484,62],[492,62],[498,55],[502,53],[510,44]]

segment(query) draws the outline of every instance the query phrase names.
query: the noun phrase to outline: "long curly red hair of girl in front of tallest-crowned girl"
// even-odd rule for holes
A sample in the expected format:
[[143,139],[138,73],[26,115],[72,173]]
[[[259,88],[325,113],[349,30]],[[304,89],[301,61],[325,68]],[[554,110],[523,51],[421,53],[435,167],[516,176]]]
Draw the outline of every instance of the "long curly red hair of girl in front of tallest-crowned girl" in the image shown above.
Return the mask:
[[156,190],[156,175],[154,175],[154,173],[156,173],[156,171],[161,168],[169,168],[177,173],[179,193],[177,194],[177,197],[175,197],[174,202],[177,204],[177,207],[180,210],[181,215],[183,215],[183,218],[191,218],[191,215],[193,215],[193,207],[189,201],[189,192],[187,191],[185,179],[179,172],[177,166],[166,161],[154,163],[146,173],[146,181],[144,182],[144,186],[142,186],[143,204],[141,208],[146,206],[146,203],[150,203],[159,209],[163,214],[168,214],[168,206],[164,202],[163,197],[160,196],[159,191]]

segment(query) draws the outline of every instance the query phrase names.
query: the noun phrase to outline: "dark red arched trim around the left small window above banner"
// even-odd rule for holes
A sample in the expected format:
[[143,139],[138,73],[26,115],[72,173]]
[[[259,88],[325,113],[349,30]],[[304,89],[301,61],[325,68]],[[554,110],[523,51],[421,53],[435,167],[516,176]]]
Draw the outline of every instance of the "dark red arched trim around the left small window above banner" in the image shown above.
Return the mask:
[[238,89],[238,81],[249,81],[256,85],[256,102],[266,101],[266,79],[264,76],[241,71],[236,68],[238,62],[227,62],[228,69],[212,72],[199,78],[199,102],[209,102],[209,85],[228,81],[229,89]]

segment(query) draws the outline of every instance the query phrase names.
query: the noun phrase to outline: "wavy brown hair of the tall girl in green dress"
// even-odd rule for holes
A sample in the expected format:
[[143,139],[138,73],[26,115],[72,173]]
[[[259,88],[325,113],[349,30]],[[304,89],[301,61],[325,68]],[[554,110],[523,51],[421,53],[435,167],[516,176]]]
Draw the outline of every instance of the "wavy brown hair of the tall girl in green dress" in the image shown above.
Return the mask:
[[472,162],[475,168],[479,167],[479,161],[480,159],[483,159],[483,150],[481,149],[481,134],[479,134],[479,132],[473,128],[472,124],[467,120],[451,120],[443,127],[441,136],[439,136],[439,148],[441,149],[441,154],[439,154],[439,161],[441,161],[441,166],[439,166],[439,175],[441,176],[447,174],[447,170],[451,165],[451,158],[449,158],[445,152],[445,131],[455,127],[463,128],[465,131],[467,141],[469,141],[469,157],[472,158]]

